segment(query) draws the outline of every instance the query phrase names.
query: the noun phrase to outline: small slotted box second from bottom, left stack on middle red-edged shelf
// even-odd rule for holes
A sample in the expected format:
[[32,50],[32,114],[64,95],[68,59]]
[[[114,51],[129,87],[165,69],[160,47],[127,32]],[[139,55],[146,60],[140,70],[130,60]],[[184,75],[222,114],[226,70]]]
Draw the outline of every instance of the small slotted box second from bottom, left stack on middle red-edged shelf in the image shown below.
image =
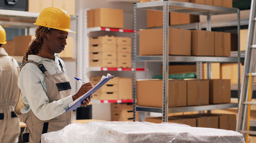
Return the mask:
[[116,60],[116,52],[90,52],[90,60]]

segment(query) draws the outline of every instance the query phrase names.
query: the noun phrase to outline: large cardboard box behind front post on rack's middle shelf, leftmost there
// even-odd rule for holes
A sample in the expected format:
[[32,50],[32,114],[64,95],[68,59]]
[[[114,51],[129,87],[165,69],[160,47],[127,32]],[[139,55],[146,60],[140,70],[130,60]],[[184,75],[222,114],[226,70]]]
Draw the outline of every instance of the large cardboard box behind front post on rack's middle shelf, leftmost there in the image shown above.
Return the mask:
[[[191,54],[191,31],[169,28],[169,54]],[[139,55],[163,54],[163,29],[140,30]]]

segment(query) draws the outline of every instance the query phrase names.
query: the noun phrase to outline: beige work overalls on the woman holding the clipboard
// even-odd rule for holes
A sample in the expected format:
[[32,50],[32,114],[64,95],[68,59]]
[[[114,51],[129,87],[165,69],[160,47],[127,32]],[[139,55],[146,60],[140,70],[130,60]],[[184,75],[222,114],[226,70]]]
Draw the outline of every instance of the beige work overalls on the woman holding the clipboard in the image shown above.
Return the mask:
[[[31,60],[27,61],[26,63],[33,63],[37,65],[39,69],[46,74],[44,80],[47,85],[47,96],[49,98],[49,102],[53,102],[71,95],[71,85],[69,82],[69,76],[67,73],[63,72],[61,64],[60,67],[63,73],[49,75],[44,65],[38,64]],[[25,105],[21,99],[20,94],[18,102],[15,106],[15,112],[18,118],[27,125],[22,135],[23,142],[38,143],[40,142],[41,134],[52,131],[58,131],[64,128],[65,126],[71,124],[71,112],[62,113],[62,115],[48,121],[41,121],[34,115],[32,111],[24,115],[20,113],[20,109],[22,109],[24,106]]]

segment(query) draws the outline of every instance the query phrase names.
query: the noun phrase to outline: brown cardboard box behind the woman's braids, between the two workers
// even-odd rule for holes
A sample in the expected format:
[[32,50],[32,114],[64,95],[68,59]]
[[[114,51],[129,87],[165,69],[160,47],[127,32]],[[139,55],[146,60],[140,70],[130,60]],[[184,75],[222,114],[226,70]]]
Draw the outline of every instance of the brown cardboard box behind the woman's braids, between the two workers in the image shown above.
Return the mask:
[[23,56],[29,47],[29,42],[34,39],[35,36],[14,36],[14,48],[15,55]]

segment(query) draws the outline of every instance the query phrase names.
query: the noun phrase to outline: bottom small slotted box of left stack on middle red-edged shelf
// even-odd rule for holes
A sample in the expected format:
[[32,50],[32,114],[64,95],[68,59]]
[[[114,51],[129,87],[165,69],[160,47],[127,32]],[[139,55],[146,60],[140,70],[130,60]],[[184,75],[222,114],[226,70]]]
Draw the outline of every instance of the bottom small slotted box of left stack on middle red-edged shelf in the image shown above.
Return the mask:
[[108,67],[116,68],[116,60],[89,60],[89,67]]

